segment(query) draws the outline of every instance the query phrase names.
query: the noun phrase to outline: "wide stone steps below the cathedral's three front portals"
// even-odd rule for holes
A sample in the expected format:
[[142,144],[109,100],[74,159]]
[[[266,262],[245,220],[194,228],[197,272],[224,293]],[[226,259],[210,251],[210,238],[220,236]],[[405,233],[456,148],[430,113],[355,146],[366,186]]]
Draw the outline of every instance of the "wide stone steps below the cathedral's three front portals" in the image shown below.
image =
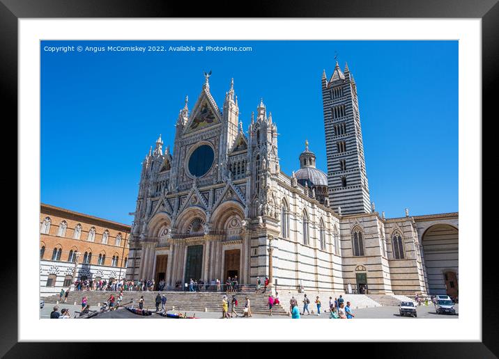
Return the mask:
[[[160,295],[164,294],[167,297],[167,310],[172,310],[175,307],[175,311],[193,311],[193,312],[204,312],[205,308],[208,312],[220,312],[222,316],[222,296],[227,294],[229,298],[229,312],[231,310],[231,299],[232,293],[224,292],[159,292]],[[91,309],[98,309],[97,306],[107,301],[107,298],[113,294],[114,297],[118,298],[119,292],[114,291],[75,291],[70,292],[68,295],[68,301],[66,303],[78,304],[82,303],[82,297],[86,296],[87,303],[91,306]],[[158,292],[123,292],[122,303],[128,303],[133,301],[134,306],[139,305],[140,296],[144,296],[144,309],[155,310],[155,298]],[[236,298],[238,300],[238,306],[236,311],[238,314],[243,314],[243,308],[245,306],[245,298],[249,298],[252,314],[269,314],[268,311],[268,294],[256,294],[256,293],[236,293]],[[45,303],[56,303],[59,301],[59,294],[53,296],[47,296],[44,298]],[[116,303],[116,302],[115,302]],[[289,301],[288,301],[289,303]],[[62,304],[61,304],[62,305]],[[59,307],[61,307],[59,305]],[[161,308],[161,306],[160,306]],[[284,310],[279,305],[272,308],[272,314],[274,315],[286,315],[286,310]]]

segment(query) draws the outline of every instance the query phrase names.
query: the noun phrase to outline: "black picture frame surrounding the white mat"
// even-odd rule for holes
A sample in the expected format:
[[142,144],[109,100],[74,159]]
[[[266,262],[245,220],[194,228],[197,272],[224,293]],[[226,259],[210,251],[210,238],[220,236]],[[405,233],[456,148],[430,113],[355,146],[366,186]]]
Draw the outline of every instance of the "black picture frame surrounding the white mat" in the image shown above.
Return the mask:
[[[482,19],[482,113],[493,120],[495,108],[493,93],[498,83],[499,61],[499,5],[498,0],[349,0],[349,1],[231,1],[192,6],[183,1],[153,0],[0,0],[0,82],[3,113],[8,119],[17,118],[17,20],[22,18],[77,18],[77,17],[380,17],[380,18],[479,18]],[[232,10],[232,11],[231,11]],[[480,75],[478,69],[469,69]],[[497,115],[495,116],[497,117]],[[11,121],[14,122],[14,121]],[[485,122],[482,120],[482,124]],[[485,131],[483,143],[492,136]],[[493,141],[490,141],[493,143]],[[486,151],[484,150],[485,154]],[[486,182],[488,183],[488,182]],[[491,214],[486,214],[486,216]],[[22,216],[22,214],[20,214]],[[464,239],[471,240],[471,239]],[[473,245],[482,245],[482,233],[473,238]],[[3,248],[6,248],[4,246]],[[496,261],[494,250],[483,250],[482,265]],[[2,255],[0,296],[3,310],[0,326],[0,355],[6,358],[59,358],[88,356],[75,350],[75,343],[34,343],[17,341],[17,257]],[[383,358],[496,358],[499,355],[499,314],[497,308],[497,281],[495,271],[482,270],[483,303],[475,303],[477,315],[482,315],[482,342],[407,342],[407,343],[351,343],[355,351]],[[493,310],[489,310],[493,309]],[[431,328],[429,328],[431,330]],[[410,338],[410,333],[408,333]],[[354,339],[354,338],[351,338]],[[223,338],[221,338],[223,340]],[[271,340],[271,337],[269,338]],[[82,345],[82,344],[78,344]],[[151,349],[151,346],[143,346]],[[91,346],[91,352],[95,347]],[[109,348],[113,350],[113,348]],[[294,350],[294,349],[293,349]],[[99,353],[102,349],[99,346]],[[332,355],[337,350],[330,352]],[[121,355],[115,352],[116,355]],[[153,353],[151,353],[152,355]],[[310,356],[314,355],[312,352]],[[315,356],[315,355],[314,355]]]

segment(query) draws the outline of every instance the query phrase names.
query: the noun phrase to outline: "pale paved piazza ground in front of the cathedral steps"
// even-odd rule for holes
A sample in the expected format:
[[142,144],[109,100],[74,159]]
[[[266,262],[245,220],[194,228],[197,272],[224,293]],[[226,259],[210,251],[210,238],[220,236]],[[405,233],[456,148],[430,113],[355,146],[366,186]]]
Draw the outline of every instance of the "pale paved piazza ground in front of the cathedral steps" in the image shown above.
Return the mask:
[[[50,312],[52,312],[52,305],[45,305],[45,308],[40,310],[40,319],[48,319],[50,316]],[[81,310],[81,305],[59,305],[59,312],[61,311],[62,308],[68,308],[71,313],[71,317],[75,315],[75,311]],[[405,320],[415,320],[415,319],[457,319],[459,318],[459,304],[455,305],[456,308],[456,313],[457,315],[438,315],[435,312],[435,308],[433,305],[422,305],[420,307],[417,307],[417,318],[412,318],[412,317],[400,317],[399,315],[399,308],[398,307],[377,307],[377,308],[363,308],[363,309],[357,309],[353,310],[353,314],[355,315],[355,319],[405,319]],[[125,309],[118,310],[117,312],[126,312]],[[122,318],[121,313],[118,314],[117,312],[108,312],[105,314],[105,317],[107,319],[118,319]],[[173,311],[169,311],[173,312]],[[127,312],[128,314],[128,312]],[[190,316],[192,314],[196,314],[197,318],[202,318],[202,319],[216,319],[220,318],[222,315],[222,309],[220,309],[219,312],[187,312],[187,314]],[[128,318],[128,317],[127,317]],[[152,315],[151,317],[141,317],[139,315],[136,315],[132,317],[134,319],[166,319],[164,317],[160,317],[159,315]],[[291,319],[291,317],[286,317],[283,315],[273,315],[272,317],[269,317],[268,315],[262,315],[262,314],[253,314],[252,318],[243,318],[243,317],[233,317],[232,319]],[[305,315],[302,316],[302,319],[329,319],[329,312],[327,313],[321,313],[320,316],[317,316],[316,314],[310,314],[310,315]]]

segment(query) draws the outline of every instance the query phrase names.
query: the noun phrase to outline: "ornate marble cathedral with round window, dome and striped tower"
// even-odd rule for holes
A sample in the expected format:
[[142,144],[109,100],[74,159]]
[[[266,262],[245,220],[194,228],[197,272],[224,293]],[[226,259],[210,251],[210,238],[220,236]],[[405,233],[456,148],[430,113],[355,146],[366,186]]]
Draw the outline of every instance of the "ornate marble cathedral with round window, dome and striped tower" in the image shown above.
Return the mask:
[[245,131],[233,80],[220,108],[210,74],[191,109],[185,99],[173,150],[160,136],[144,158],[128,279],[174,289],[268,276],[291,291],[457,296],[458,213],[385,218],[369,199],[348,65],[320,81],[327,173],[308,142],[297,169],[282,172],[278,120],[260,100]]

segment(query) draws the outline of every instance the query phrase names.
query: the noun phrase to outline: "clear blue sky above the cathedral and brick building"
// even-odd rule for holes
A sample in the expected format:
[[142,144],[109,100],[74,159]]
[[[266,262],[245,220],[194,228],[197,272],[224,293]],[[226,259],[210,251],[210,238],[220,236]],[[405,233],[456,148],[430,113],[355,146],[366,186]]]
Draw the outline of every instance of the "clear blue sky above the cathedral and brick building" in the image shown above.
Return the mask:
[[[45,46],[229,45],[251,52],[66,52]],[[222,108],[231,78],[240,120],[260,97],[280,134],[281,167],[299,168],[305,139],[327,172],[321,99],[348,62],[358,86],[371,200],[387,217],[458,210],[457,41],[43,41],[41,201],[131,223],[141,161],[162,134],[173,149],[184,97],[210,90]]]

